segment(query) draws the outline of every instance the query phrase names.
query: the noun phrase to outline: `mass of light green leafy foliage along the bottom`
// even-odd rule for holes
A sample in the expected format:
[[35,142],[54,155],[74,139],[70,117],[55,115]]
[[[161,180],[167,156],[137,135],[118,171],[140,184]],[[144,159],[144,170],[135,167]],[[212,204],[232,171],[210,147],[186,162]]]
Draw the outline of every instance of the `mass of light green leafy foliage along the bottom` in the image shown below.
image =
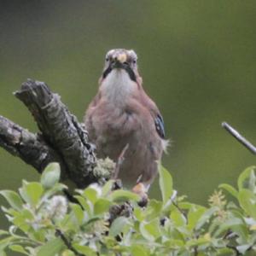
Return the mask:
[[[172,177],[160,167],[162,201],[139,207],[138,195],[112,191],[113,181],[77,190],[79,204],[68,202],[59,183],[60,167],[48,166],[40,183],[23,181],[19,194],[3,190],[9,203],[2,207],[10,222],[0,230],[0,255],[6,250],[23,255],[237,255],[256,250],[256,176],[249,167],[237,189],[223,190],[202,207],[177,197]],[[129,202],[127,202],[129,201]],[[127,213],[113,208],[131,207]]]

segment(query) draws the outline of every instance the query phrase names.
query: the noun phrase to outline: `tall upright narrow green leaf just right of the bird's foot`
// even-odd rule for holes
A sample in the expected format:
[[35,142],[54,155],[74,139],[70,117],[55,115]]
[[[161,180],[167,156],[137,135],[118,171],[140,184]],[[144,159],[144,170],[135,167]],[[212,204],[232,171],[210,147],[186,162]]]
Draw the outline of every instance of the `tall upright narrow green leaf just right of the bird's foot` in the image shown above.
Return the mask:
[[172,196],[172,176],[170,172],[166,170],[163,166],[159,166],[159,184],[160,184],[160,191],[162,195],[162,199],[164,204],[168,201]]

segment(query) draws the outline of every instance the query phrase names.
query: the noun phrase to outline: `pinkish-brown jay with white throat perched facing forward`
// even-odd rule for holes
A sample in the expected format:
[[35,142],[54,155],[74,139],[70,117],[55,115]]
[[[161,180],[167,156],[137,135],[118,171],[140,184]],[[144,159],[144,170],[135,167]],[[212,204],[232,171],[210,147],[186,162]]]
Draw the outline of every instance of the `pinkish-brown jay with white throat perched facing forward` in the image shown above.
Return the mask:
[[164,119],[143,89],[133,49],[108,51],[99,88],[84,115],[98,158],[118,161],[119,178],[132,191],[147,195],[166,151]]

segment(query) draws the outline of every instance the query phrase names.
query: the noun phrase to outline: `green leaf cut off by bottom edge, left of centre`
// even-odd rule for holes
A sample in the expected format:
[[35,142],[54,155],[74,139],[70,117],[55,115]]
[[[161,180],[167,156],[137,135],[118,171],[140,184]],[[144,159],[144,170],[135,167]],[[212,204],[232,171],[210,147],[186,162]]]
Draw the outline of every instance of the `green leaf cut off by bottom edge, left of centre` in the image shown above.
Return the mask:
[[54,238],[47,241],[44,246],[40,247],[37,256],[55,256],[59,255],[61,251],[65,248],[65,245],[61,238]]

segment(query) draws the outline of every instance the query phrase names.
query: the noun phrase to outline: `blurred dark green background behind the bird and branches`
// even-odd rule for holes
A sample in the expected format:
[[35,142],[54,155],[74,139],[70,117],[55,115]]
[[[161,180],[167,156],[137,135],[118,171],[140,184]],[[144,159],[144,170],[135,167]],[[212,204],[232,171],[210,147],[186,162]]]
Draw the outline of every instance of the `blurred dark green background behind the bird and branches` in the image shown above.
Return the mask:
[[[108,49],[135,49],[172,141],[163,163],[179,195],[207,204],[218,183],[234,184],[255,164],[220,125],[256,143],[255,24],[255,1],[0,1],[0,114],[37,131],[12,95],[32,78],[82,120]],[[2,148],[0,174],[0,189],[38,178]]]

